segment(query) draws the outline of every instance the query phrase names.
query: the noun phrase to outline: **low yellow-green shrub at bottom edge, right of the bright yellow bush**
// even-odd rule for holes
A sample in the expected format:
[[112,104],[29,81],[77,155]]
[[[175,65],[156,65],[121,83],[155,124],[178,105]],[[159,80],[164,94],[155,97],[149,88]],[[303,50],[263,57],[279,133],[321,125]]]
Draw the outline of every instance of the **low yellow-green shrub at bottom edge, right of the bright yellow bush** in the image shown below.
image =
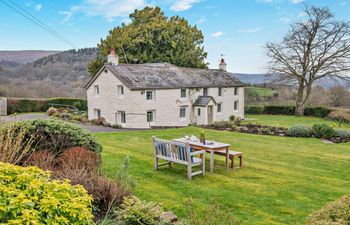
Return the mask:
[[118,224],[167,224],[167,221],[161,219],[163,212],[162,207],[156,203],[141,201],[135,196],[130,196],[124,199],[116,214]]

